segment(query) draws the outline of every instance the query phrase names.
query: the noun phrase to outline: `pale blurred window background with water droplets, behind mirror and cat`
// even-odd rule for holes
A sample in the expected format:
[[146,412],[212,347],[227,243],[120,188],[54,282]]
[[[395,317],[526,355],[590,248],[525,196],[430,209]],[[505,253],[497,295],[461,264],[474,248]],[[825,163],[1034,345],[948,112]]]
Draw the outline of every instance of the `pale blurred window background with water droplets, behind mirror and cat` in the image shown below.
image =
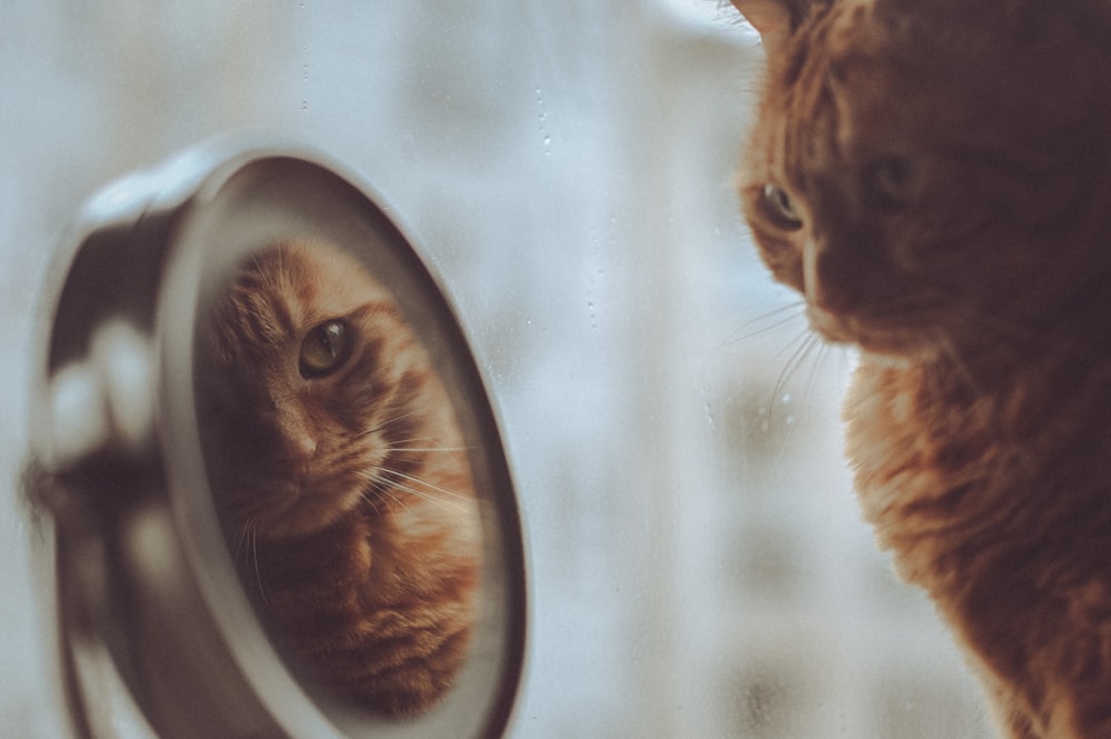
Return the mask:
[[51,254],[108,180],[244,127],[384,193],[474,338],[530,533],[513,737],[987,736],[859,521],[853,358],[737,213],[760,58],[715,0],[4,1],[0,737],[60,710],[17,493]]

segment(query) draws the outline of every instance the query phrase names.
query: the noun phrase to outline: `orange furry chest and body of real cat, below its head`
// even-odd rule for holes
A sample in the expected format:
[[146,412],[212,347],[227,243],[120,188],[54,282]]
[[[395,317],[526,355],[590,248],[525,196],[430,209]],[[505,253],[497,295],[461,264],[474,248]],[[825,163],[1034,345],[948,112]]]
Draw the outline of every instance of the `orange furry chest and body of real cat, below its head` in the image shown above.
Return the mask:
[[845,400],[864,517],[972,646],[989,686],[1011,686],[1005,702],[1040,727],[1030,736],[1072,736],[1051,730],[1077,722],[1060,711],[1084,710],[1061,699],[1062,685],[1111,691],[1101,353],[1033,358],[977,391],[952,364],[865,357]]

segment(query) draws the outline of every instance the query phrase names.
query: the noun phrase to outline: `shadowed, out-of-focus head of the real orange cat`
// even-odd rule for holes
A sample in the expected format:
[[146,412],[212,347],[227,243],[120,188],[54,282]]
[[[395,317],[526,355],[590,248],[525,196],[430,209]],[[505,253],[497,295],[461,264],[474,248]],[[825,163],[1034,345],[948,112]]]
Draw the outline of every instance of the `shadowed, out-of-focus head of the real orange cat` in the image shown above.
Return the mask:
[[1107,278],[1111,6],[733,4],[768,54],[743,209],[827,339],[925,356]]

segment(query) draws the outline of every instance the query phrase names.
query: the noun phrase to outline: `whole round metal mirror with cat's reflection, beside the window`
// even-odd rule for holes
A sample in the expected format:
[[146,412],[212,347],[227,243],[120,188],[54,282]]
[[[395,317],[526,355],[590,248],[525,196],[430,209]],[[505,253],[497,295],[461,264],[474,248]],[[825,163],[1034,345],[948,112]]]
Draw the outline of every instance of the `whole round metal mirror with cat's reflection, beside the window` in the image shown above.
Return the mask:
[[496,412],[353,181],[206,146],[93,198],[60,260],[31,488],[79,735],[504,731],[526,591]]

